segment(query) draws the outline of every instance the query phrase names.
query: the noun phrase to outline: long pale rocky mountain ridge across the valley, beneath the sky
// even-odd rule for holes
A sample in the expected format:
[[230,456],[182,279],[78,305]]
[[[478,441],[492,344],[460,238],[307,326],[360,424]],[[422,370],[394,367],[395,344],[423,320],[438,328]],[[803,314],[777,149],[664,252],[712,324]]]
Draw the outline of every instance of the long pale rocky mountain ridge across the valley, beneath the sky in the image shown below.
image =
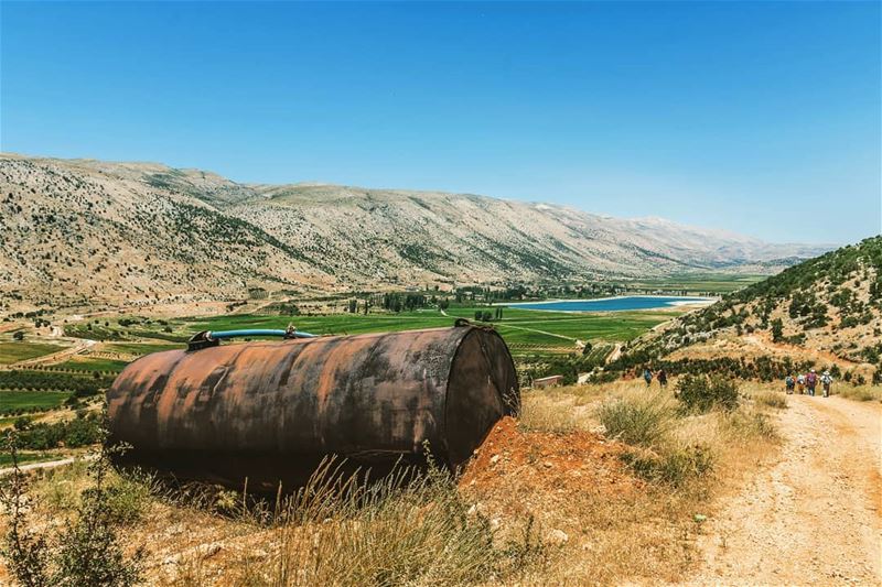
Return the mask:
[[3,305],[768,272],[818,248],[546,204],[0,155]]

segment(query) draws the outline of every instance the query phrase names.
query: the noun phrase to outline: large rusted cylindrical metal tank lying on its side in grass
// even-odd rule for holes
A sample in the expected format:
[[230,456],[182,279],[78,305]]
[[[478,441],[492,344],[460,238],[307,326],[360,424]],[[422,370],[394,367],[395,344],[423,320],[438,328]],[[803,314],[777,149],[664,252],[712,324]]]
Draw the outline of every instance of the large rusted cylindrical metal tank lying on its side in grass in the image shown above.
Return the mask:
[[518,401],[508,348],[474,326],[154,352],[107,392],[122,464],[263,489],[327,455],[419,461],[426,441],[455,468]]

